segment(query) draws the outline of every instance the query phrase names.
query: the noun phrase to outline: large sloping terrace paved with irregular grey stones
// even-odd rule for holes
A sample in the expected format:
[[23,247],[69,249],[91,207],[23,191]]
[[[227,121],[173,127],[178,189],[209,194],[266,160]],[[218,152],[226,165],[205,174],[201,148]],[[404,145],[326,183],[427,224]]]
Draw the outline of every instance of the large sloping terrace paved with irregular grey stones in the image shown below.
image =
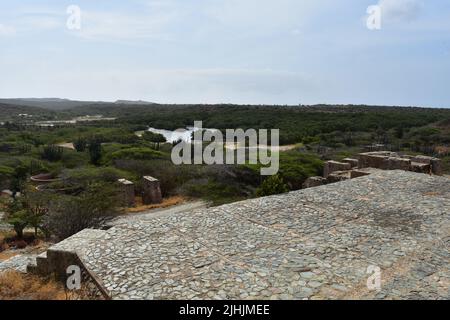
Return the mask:
[[[445,177],[375,171],[81,238],[59,246],[113,299],[450,299]],[[370,265],[380,292],[367,289]]]

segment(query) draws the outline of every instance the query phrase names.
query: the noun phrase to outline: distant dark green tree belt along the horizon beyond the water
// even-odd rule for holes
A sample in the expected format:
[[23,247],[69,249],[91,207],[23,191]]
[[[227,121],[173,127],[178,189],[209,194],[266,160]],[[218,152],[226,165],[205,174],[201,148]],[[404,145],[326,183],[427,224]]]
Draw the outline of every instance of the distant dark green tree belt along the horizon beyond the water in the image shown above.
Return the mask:
[[[115,116],[120,122],[175,130],[202,120],[216,129],[280,129],[281,143],[291,144],[335,131],[409,130],[450,119],[450,110],[369,106],[238,106],[238,105],[91,105],[74,114]],[[400,130],[400,129],[398,129]]]

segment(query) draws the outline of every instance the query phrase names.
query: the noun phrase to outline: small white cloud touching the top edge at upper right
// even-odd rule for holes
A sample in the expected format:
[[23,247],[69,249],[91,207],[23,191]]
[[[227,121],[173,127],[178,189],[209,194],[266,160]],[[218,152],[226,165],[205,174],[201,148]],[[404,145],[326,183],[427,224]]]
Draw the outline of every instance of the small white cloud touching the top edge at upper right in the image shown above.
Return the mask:
[[416,19],[423,4],[419,0],[380,0],[378,5],[384,21],[400,22]]

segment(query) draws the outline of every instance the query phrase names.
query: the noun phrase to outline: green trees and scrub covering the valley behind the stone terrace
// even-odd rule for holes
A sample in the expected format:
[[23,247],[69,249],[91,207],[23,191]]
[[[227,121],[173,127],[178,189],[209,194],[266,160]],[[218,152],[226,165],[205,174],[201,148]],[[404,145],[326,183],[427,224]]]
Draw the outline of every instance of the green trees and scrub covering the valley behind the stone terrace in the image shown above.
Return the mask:
[[[37,125],[98,114],[116,120]],[[22,193],[5,204],[18,236],[32,227],[64,238],[120,214],[120,178],[133,181],[139,193],[141,177],[154,176],[164,197],[202,198],[217,205],[300,189],[308,177],[322,174],[325,160],[341,160],[375,143],[441,157],[450,172],[450,110],[445,109],[83,103],[54,111],[0,104],[0,116],[0,189]],[[176,166],[170,160],[173,145],[146,132],[148,126],[173,130],[194,120],[222,130],[277,128],[281,144],[295,146],[281,152],[278,175],[261,177],[260,164]],[[144,132],[141,138],[137,131]],[[70,143],[75,150],[66,147]],[[37,192],[29,177],[43,173],[59,180]]]

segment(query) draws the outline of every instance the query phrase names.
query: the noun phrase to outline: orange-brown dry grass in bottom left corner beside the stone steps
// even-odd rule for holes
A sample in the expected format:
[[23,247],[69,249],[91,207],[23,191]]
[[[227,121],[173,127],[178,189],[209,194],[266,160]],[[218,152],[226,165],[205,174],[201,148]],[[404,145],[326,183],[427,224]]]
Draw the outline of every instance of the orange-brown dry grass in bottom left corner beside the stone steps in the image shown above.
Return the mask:
[[7,271],[0,274],[0,300],[66,300],[64,287],[52,280]]

